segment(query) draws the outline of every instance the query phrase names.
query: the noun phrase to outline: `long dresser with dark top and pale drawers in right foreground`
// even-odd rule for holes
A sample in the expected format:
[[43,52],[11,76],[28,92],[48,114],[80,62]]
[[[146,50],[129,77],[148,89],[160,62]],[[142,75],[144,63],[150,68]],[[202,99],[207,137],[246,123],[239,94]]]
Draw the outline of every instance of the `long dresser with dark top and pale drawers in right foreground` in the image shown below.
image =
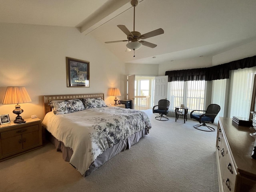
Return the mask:
[[256,160],[251,157],[252,127],[238,126],[231,118],[218,119],[216,162],[220,192],[256,192]]

